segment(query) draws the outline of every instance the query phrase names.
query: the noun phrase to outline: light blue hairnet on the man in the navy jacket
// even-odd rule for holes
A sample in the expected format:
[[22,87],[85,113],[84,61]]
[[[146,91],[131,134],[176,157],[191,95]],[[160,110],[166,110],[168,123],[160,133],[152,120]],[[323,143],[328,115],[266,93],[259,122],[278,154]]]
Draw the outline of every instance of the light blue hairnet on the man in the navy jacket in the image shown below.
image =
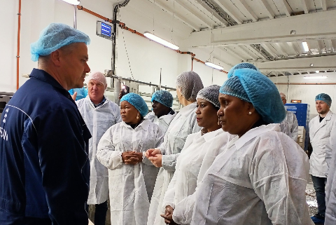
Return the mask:
[[62,23],[51,23],[45,27],[38,41],[31,43],[31,60],[36,62],[40,55],[50,55],[53,51],[71,43],[90,43],[90,38],[83,32]]

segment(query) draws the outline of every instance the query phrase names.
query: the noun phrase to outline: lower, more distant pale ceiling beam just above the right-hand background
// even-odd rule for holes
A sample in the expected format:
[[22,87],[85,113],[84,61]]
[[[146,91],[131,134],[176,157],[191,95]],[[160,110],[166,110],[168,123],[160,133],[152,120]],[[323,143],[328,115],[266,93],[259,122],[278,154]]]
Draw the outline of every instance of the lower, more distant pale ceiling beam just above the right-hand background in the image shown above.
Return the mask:
[[[255,62],[255,67],[262,72],[270,71],[316,71],[316,70],[335,70],[336,55],[321,57],[301,57],[289,60],[274,60],[267,62]],[[314,64],[311,67],[310,64]]]

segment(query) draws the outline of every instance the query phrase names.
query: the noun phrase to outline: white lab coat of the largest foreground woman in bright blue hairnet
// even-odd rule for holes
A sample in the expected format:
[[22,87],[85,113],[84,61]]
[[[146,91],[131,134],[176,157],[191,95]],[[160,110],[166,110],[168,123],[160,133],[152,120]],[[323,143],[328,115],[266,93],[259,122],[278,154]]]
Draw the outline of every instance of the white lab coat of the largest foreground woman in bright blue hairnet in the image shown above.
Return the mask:
[[191,224],[307,225],[308,157],[280,132],[261,125],[230,141],[197,189]]

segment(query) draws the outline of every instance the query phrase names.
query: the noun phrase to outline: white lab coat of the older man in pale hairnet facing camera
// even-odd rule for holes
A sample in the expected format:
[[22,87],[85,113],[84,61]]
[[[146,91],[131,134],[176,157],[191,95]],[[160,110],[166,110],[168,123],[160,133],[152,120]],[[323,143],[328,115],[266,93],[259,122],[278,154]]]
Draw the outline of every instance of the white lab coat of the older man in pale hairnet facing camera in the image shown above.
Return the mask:
[[120,109],[118,104],[107,98],[104,104],[95,108],[89,95],[76,101],[76,104],[92,135],[89,139],[90,191],[87,204],[104,203],[109,197],[109,172],[96,157],[97,145],[106,130],[121,121]]

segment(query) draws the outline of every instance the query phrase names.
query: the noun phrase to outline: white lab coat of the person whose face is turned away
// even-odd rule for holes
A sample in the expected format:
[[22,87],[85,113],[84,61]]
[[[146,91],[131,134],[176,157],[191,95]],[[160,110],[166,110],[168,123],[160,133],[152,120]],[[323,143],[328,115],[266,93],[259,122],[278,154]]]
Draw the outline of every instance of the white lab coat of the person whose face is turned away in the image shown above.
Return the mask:
[[160,217],[160,214],[162,214],[162,200],[174,175],[176,158],[183,149],[187,136],[201,130],[197,125],[195,111],[195,102],[183,107],[170,123],[164,142],[158,147],[163,154],[162,168],[160,168],[155,182],[151,207],[148,212],[148,225],[165,225],[165,221]]

